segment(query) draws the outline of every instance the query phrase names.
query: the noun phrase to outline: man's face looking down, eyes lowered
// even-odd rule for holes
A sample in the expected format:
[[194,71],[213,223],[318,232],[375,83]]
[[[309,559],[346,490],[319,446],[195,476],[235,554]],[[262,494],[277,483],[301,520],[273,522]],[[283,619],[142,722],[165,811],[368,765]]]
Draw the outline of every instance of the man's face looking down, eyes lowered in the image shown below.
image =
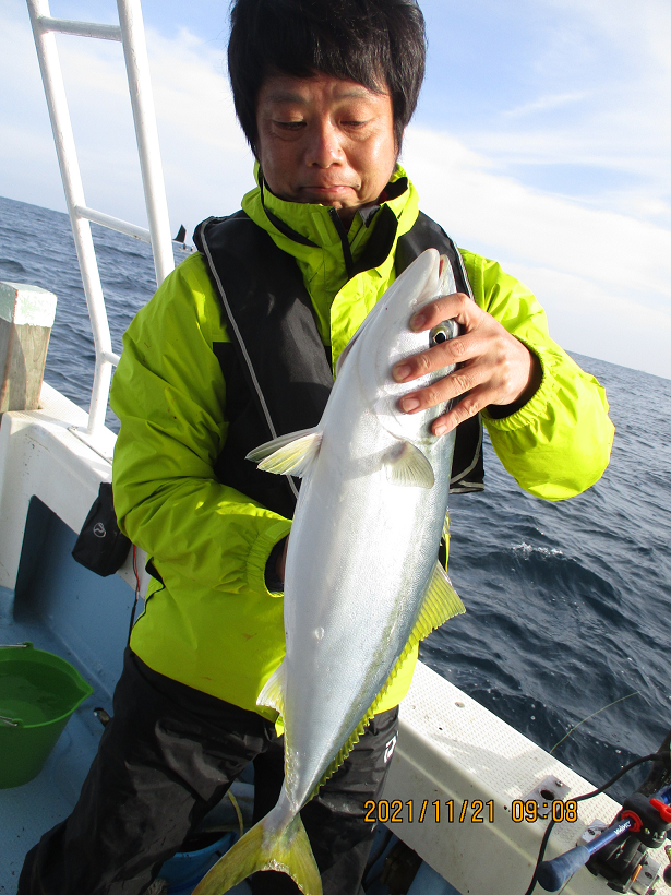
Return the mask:
[[275,195],[332,205],[346,223],[380,196],[396,165],[390,95],[354,81],[266,77],[256,126],[261,167]]

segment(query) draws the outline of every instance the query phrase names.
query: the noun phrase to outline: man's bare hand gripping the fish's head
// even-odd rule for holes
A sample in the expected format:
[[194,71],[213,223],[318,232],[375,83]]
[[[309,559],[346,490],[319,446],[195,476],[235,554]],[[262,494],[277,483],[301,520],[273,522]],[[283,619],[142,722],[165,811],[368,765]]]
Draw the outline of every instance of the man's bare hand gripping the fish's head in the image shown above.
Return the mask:
[[456,293],[436,298],[415,314],[410,329],[423,332],[443,320],[456,320],[462,335],[402,360],[392,374],[396,382],[410,382],[452,363],[460,366],[400,398],[403,410],[417,414],[468,392],[448,414],[433,421],[433,434],[444,435],[484,407],[493,417],[508,416],[536,393],[542,379],[536,355],[468,296]]

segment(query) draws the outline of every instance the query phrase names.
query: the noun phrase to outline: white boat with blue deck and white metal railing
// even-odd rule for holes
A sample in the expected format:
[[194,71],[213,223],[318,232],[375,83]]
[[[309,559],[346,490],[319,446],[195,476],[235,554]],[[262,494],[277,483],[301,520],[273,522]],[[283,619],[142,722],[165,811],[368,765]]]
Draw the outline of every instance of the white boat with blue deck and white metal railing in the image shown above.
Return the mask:
[[[31,647],[25,644],[34,644],[67,659],[91,684],[93,696],[73,712],[39,774],[21,786],[0,789],[0,893],[8,895],[15,892],[26,851],[69,814],[76,800],[111,711],[129,618],[135,604],[142,602],[148,581],[146,557],[134,548],[119,571],[107,577],[72,558],[99,486],[111,478],[116,439],[105,426],[105,411],[118,357],[111,350],[88,222],[149,242],[157,282],[173,264],[140,0],[119,0],[118,27],[53,19],[47,0],[27,2],[94,331],[96,367],[88,413],[45,382],[35,409],[2,414],[0,641],[2,649],[27,651]],[[57,33],[123,45],[148,229],[86,206],[59,73]],[[49,299],[44,301],[49,305]],[[0,718],[0,725],[8,720],[14,723]],[[233,789],[238,802],[249,795],[245,786],[249,784],[242,783]],[[591,842],[615,818],[621,806],[604,793],[573,801],[594,789],[591,783],[419,663],[400,706],[385,798],[370,807],[370,820],[380,823],[380,831],[367,892],[523,895],[551,815],[556,823],[547,858]],[[661,875],[668,863],[663,847],[650,849],[631,891],[671,895]],[[175,884],[167,891],[190,890]],[[249,892],[245,884],[237,891]],[[598,895],[609,888],[602,876],[582,869],[563,891]]]

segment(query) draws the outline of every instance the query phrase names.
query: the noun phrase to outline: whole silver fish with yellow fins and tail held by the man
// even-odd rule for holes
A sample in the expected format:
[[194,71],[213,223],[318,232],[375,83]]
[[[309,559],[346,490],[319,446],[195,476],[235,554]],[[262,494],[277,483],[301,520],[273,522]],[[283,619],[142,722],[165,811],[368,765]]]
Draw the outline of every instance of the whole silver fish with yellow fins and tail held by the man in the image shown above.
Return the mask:
[[419,640],[465,611],[438,561],[446,533],[454,431],[431,422],[446,405],[408,415],[410,383],[392,367],[458,334],[455,321],[415,333],[410,318],[456,291],[446,256],[428,249],[390,286],[346,346],[320,423],[261,445],[259,467],[300,476],[285,571],[286,655],[257,704],[285,729],[275,808],[214,866],[194,895],[221,895],[261,870],[321,895],[300,809],[352,749]]

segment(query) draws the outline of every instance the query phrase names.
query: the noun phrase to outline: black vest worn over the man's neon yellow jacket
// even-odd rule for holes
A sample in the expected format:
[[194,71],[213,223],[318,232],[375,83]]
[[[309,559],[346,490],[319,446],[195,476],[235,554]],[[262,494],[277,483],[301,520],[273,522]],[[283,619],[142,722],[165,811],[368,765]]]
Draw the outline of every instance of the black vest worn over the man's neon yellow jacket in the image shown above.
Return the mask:
[[[280,225],[287,236],[313,244]],[[351,276],[384,261],[396,227],[395,215],[383,206],[363,256],[349,271]],[[229,421],[215,473],[224,485],[291,518],[300,479],[262,473],[244,457],[271,439],[319,423],[333,387],[331,349],[320,337],[297,262],[244,212],[204,220],[193,241],[221,300],[231,339],[213,346],[226,381]],[[453,241],[421,213],[398,239],[396,273],[429,248],[447,255],[457,289],[472,297]],[[451,491],[482,490],[482,423],[477,416],[457,428]]]

